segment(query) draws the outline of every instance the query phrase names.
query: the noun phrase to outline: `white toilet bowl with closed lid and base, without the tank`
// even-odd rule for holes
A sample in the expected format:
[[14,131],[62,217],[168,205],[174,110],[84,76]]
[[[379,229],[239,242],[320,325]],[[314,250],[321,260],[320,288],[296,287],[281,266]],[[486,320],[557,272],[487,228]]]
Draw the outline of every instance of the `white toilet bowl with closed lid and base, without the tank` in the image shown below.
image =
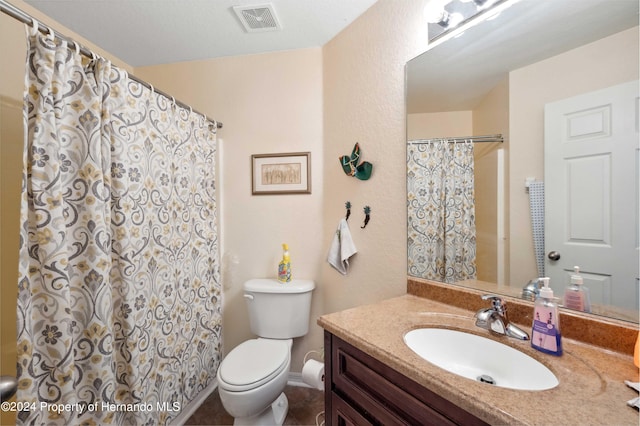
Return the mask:
[[235,425],[280,425],[288,401],[292,340],[252,339],[233,349],[218,369],[218,393]]

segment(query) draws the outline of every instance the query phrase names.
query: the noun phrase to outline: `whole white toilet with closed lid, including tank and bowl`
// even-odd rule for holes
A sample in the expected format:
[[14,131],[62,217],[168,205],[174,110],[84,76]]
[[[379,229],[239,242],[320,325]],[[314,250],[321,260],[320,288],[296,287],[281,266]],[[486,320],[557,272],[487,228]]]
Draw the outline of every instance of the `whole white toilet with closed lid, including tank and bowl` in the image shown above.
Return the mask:
[[281,425],[289,403],[294,337],[309,331],[311,280],[252,279],[244,283],[251,331],[257,339],[236,346],[218,368],[218,392],[235,425]]

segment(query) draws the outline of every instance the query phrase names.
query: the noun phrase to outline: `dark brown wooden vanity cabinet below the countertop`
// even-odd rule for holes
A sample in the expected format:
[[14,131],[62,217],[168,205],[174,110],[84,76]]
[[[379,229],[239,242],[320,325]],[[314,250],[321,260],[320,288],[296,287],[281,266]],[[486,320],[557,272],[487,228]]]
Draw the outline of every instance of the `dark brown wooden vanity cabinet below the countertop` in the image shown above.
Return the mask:
[[485,425],[328,331],[325,421],[343,425]]

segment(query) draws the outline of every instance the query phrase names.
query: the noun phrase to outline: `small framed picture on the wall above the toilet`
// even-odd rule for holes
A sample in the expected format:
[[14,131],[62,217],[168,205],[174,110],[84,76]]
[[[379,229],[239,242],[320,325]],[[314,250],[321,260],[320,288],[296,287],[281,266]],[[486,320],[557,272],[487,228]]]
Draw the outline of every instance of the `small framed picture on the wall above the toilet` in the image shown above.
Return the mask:
[[251,193],[311,194],[311,153],[251,156]]

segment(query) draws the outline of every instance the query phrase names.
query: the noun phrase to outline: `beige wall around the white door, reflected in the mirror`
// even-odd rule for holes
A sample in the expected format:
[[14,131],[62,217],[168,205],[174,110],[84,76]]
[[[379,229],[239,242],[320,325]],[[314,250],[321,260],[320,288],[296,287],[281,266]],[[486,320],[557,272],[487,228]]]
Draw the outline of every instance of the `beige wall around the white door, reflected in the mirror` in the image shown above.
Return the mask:
[[638,79],[638,27],[513,71],[509,76],[509,282],[537,275],[527,177],[544,178],[544,104]]

